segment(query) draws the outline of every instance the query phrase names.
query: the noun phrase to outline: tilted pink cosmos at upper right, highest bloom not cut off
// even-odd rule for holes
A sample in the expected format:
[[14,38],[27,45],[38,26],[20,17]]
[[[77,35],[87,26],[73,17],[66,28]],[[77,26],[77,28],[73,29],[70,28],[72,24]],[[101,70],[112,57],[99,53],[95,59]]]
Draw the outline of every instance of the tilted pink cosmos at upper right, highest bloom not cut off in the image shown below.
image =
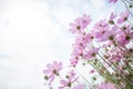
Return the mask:
[[121,13],[120,13],[120,18],[117,19],[116,22],[117,22],[117,23],[123,23],[124,21],[127,20],[129,16],[130,16],[130,12],[129,12],[129,11],[121,12]]

